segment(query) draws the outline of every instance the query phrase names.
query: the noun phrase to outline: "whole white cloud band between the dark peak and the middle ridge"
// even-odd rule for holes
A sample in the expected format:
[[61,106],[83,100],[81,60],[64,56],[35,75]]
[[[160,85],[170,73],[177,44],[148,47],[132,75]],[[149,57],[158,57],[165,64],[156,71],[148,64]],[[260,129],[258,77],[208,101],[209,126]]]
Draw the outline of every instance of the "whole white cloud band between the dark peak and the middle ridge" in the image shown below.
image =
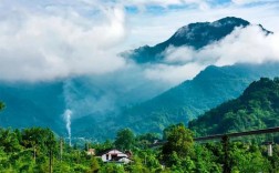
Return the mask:
[[165,51],[165,64],[153,65],[146,70],[146,75],[177,84],[213,64],[223,67],[279,61],[278,45],[278,33],[266,35],[258,26],[237,28],[221,41],[200,50],[169,47]]

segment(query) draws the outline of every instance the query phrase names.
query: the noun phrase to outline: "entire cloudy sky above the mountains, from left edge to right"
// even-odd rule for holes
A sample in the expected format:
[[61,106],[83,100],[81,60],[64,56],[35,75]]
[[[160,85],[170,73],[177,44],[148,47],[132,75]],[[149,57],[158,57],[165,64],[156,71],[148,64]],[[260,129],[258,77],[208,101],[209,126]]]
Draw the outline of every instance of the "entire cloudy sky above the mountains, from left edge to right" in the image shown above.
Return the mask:
[[228,16],[279,31],[279,0],[1,0],[0,80],[131,68],[120,52],[165,41],[188,23]]

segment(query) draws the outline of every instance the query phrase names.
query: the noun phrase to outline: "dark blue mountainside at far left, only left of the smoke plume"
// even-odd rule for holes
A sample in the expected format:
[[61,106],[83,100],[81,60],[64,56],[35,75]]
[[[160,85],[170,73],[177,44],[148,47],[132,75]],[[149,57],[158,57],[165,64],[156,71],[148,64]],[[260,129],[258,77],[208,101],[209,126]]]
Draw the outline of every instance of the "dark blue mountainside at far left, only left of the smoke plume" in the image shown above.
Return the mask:
[[6,104],[0,113],[1,126],[51,126],[55,132],[63,132],[62,82],[1,82],[0,99]]

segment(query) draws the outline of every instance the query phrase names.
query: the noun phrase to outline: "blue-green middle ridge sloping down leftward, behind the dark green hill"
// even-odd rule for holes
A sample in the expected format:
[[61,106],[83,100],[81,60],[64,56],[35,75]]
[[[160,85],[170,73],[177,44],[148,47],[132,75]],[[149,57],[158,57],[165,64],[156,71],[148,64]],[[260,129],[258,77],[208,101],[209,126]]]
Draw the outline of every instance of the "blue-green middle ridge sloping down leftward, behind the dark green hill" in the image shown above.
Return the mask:
[[[131,128],[136,133],[162,132],[169,124],[187,124],[223,102],[239,96],[255,80],[279,75],[279,63],[210,65],[193,80],[134,106],[125,108],[99,124],[75,124],[76,135],[114,136],[121,128]],[[81,121],[81,120],[80,120]],[[84,118],[83,122],[90,121]],[[108,133],[107,133],[108,132]],[[107,133],[107,134],[105,134]],[[87,134],[87,135],[90,135]]]

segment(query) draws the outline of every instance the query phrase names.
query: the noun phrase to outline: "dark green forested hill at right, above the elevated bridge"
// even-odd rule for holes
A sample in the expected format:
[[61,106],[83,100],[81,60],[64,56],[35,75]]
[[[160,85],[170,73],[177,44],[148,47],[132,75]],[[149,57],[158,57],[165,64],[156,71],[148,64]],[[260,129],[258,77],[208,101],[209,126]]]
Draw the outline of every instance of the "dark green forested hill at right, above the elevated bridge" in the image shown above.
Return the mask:
[[279,125],[279,78],[261,78],[234,100],[189,122],[198,135],[223,134]]

